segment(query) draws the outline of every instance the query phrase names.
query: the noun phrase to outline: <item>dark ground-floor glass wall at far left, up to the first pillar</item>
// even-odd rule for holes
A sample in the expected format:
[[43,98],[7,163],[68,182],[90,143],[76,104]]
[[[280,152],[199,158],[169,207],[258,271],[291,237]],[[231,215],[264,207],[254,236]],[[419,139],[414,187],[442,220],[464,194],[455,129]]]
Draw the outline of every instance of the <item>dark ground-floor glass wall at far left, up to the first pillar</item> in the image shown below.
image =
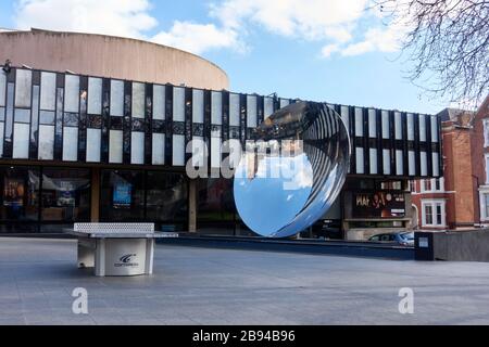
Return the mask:
[[60,232],[90,220],[90,170],[0,167],[0,232]]

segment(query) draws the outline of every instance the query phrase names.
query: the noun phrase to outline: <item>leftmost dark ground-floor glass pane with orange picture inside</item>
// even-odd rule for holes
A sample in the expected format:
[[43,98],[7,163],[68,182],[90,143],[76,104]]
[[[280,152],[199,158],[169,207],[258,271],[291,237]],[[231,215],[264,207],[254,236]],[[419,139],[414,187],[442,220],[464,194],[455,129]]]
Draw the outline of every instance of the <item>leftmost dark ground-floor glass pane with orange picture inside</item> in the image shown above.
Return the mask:
[[[1,167],[3,190],[2,221],[36,221],[39,217],[39,170],[26,167]],[[18,228],[12,227],[12,232]]]

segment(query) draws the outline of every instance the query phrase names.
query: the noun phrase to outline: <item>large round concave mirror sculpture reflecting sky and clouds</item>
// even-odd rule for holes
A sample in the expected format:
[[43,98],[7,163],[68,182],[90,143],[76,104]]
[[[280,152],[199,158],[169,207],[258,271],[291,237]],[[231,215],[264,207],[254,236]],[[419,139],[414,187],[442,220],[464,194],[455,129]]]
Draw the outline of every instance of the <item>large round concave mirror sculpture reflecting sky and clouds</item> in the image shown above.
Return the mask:
[[330,208],[350,166],[350,139],[326,104],[298,102],[253,131],[235,171],[235,203],[242,221],[269,237],[294,235]]

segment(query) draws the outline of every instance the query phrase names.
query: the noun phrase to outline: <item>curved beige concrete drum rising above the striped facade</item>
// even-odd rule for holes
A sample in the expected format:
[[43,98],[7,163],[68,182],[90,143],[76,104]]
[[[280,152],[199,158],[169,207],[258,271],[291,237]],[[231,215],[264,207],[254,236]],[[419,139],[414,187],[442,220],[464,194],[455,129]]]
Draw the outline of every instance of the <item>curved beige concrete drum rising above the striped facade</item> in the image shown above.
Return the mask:
[[188,52],[141,40],[33,29],[0,33],[0,62],[35,69],[201,89],[229,89],[226,73]]

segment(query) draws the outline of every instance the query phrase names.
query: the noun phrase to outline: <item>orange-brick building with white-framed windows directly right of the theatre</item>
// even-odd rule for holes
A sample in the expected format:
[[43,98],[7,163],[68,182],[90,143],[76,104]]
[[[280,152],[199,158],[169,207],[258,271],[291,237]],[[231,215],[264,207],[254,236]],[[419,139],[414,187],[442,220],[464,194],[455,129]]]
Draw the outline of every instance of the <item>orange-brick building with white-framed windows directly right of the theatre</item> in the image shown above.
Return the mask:
[[[444,176],[411,182],[413,227],[460,230],[477,223],[477,179],[473,175],[474,114],[446,108],[442,121]],[[489,187],[488,187],[489,192]],[[416,228],[417,227],[417,228]]]

